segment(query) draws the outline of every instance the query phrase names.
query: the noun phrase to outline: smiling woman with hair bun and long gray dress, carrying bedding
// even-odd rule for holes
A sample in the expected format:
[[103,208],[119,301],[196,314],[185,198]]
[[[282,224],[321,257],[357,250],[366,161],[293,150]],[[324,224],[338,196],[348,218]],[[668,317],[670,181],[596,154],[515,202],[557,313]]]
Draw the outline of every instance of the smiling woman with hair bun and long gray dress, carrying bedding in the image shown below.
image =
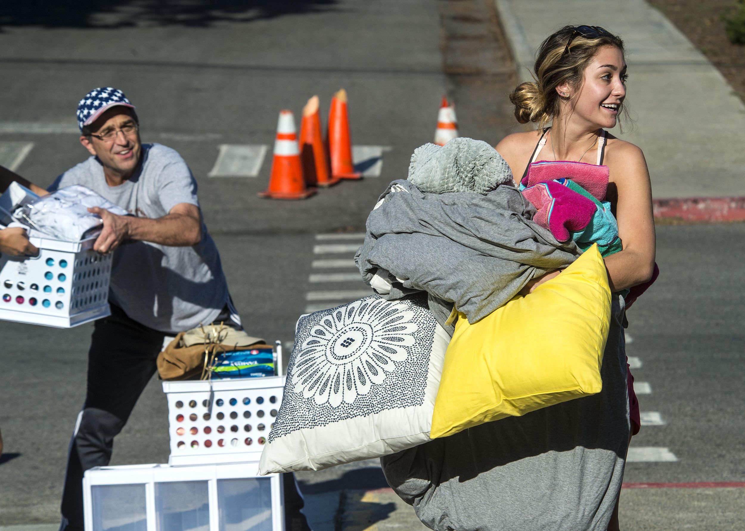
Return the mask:
[[609,167],[606,199],[623,250],[606,258],[613,295],[603,389],[383,457],[390,485],[437,531],[618,530],[630,440],[621,292],[647,282],[655,258],[644,156],[605,131],[615,127],[626,98],[624,43],[602,28],[562,28],[541,45],[535,75],[511,99],[518,121],[539,130],[510,135],[497,150],[516,180],[536,160]]

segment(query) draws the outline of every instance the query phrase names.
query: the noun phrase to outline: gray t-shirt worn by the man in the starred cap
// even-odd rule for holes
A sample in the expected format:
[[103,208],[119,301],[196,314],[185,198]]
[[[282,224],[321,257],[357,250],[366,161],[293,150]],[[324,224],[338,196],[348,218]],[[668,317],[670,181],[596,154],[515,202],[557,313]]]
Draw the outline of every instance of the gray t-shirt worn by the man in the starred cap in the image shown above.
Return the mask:
[[[57,177],[48,188],[83,185],[138,217],[155,219],[179,203],[199,206],[197,181],[170,147],[142,144],[142,169],[126,182],[109,186],[95,156]],[[194,247],[126,242],[112,261],[110,302],[145,326],[175,334],[212,322],[228,301],[215,242],[202,226]]]

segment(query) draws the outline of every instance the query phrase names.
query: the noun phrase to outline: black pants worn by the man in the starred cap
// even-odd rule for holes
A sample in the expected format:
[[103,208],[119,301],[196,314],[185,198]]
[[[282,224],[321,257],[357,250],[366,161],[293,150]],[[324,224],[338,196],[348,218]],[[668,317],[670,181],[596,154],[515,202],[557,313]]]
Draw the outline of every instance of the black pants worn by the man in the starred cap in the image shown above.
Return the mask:
[[[227,319],[218,319],[219,321]],[[70,441],[60,531],[83,531],[83,473],[111,460],[114,437],[127,424],[142,390],[156,372],[165,334],[133,321],[121,308],[95,322],[88,352],[88,387]],[[285,527],[309,531],[293,474],[284,474]]]

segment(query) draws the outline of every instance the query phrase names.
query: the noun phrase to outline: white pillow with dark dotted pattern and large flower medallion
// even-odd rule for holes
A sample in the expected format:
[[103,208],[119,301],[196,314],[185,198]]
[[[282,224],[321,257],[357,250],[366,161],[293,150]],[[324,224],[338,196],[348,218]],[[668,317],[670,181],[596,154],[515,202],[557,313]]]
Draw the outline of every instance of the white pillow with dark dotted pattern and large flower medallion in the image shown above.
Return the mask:
[[322,470],[428,442],[449,341],[425,294],[369,296],[301,317],[260,473]]

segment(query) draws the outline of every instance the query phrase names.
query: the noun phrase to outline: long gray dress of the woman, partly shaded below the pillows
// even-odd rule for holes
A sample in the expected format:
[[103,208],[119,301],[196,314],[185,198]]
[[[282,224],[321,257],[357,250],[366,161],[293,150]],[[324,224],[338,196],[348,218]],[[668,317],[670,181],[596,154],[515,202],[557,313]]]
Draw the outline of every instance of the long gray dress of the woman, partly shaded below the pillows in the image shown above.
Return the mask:
[[381,458],[438,531],[605,531],[629,442],[624,299],[613,294],[603,390]]

